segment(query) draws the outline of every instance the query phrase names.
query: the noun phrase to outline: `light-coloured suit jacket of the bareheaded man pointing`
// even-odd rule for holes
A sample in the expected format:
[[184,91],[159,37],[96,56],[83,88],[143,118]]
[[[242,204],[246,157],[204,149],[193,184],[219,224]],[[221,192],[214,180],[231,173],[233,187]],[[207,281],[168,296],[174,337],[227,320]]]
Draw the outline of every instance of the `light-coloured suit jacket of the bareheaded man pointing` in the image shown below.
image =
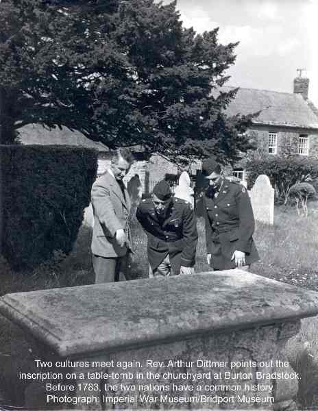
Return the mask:
[[[101,257],[125,256],[132,249],[128,216],[130,196],[127,188],[123,192],[117,180],[108,172],[99,177],[93,184],[91,201],[94,213],[92,253]],[[117,229],[123,229],[128,242],[120,247],[116,241]]]

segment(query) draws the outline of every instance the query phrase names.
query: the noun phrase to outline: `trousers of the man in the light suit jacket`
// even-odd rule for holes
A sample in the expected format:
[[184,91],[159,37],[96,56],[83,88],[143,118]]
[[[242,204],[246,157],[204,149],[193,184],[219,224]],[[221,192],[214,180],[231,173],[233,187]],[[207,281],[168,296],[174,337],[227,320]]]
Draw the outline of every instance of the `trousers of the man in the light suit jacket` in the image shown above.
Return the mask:
[[93,254],[95,284],[125,281],[129,267],[128,253],[122,257],[101,257]]

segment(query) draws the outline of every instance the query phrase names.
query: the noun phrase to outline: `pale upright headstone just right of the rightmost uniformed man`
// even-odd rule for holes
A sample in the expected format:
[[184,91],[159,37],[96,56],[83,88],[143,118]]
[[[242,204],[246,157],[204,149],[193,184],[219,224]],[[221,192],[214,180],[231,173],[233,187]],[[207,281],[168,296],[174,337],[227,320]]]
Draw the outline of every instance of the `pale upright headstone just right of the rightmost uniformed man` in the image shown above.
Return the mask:
[[256,221],[273,225],[274,189],[271,186],[269,177],[265,174],[259,175],[249,195]]

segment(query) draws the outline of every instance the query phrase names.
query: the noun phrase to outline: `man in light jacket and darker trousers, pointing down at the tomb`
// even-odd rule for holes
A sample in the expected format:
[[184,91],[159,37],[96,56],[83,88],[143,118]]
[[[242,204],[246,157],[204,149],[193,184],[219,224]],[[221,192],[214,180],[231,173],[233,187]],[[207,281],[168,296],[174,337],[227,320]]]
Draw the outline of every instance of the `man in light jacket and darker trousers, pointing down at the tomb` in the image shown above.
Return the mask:
[[92,187],[92,253],[96,284],[126,279],[132,243],[127,223],[130,196],[123,184],[123,177],[131,164],[130,151],[117,149],[110,168]]

